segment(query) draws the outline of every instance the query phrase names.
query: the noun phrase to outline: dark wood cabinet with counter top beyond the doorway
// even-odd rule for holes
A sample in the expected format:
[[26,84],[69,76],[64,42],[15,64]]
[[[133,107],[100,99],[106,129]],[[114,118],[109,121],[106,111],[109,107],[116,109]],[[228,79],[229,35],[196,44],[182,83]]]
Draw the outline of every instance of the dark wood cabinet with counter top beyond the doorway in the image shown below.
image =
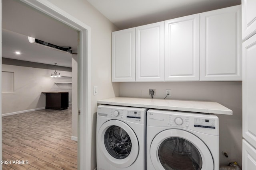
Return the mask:
[[46,109],[64,110],[68,109],[68,93],[69,92],[42,92],[45,93]]

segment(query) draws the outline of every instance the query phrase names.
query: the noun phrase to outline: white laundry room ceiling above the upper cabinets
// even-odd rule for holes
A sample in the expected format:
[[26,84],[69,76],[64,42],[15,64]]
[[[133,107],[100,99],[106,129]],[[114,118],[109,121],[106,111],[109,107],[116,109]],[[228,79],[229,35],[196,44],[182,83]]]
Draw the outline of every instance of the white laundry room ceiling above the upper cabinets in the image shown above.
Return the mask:
[[241,4],[241,0],[87,0],[120,29]]

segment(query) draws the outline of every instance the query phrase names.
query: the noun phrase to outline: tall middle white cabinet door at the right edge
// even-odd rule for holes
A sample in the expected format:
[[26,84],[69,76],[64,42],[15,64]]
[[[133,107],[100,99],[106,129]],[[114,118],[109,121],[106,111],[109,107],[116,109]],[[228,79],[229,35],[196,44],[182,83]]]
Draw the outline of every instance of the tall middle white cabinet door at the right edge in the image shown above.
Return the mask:
[[256,35],[243,43],[243,137],[256,148]]

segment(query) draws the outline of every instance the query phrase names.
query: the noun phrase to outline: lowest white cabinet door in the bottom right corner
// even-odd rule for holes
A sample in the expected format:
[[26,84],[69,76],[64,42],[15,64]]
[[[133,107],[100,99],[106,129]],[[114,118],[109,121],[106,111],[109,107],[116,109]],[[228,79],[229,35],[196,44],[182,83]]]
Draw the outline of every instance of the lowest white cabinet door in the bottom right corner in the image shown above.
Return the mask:
[[256,170],[256,149],[243,139],[242,167],[244,170]]

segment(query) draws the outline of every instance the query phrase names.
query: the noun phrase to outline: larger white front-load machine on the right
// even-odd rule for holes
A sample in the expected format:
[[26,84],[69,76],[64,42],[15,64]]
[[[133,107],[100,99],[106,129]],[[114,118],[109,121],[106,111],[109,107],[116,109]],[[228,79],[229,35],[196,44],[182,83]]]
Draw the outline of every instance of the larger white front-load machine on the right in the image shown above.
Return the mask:
[[212,114],[150,109],[147,170],[219,170],[219,122]]

